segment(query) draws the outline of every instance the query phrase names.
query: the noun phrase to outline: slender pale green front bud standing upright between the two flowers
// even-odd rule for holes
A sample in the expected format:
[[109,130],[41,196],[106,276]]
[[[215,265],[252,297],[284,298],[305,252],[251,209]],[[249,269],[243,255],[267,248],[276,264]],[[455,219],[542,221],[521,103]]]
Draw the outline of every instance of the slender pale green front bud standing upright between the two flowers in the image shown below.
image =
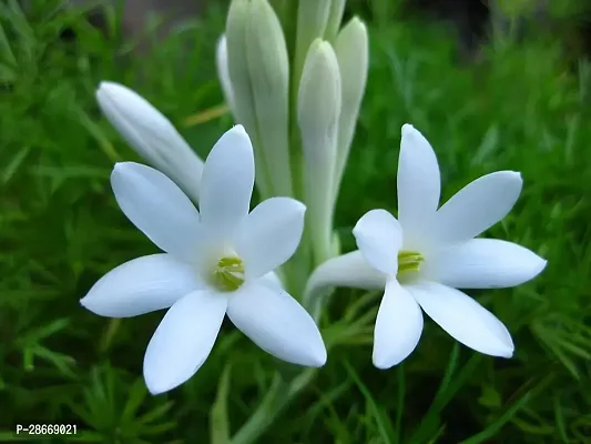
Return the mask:
[[333,185],[340,98],[340,73],[335,51],[328,42],[317,39],[308,51],[297,98],[305,196],[317,263],[330,258],[333,252]]

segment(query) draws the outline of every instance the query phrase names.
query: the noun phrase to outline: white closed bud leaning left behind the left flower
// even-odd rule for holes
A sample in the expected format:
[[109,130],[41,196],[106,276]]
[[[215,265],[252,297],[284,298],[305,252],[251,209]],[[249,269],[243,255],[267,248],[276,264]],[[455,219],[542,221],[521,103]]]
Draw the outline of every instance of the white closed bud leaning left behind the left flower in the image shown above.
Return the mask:
[[152,167],[198,202],[203,161],[147,100],[113,82],[101,82],[96,100],[125,141]]

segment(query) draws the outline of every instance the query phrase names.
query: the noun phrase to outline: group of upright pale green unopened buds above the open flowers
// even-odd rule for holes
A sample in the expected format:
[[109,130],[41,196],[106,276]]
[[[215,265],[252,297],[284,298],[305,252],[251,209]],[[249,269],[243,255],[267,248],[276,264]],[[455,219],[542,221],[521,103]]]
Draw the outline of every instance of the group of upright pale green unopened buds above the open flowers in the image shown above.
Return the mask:
[[261,194],[308,209],[308,269],[338,254],[333,213],[367,79],[367,29],[357,18],[340,28],[344,9],[344,0],[298,1],[288,54],[271,4],[234,0],[217,43],[226,102],[255,145]]

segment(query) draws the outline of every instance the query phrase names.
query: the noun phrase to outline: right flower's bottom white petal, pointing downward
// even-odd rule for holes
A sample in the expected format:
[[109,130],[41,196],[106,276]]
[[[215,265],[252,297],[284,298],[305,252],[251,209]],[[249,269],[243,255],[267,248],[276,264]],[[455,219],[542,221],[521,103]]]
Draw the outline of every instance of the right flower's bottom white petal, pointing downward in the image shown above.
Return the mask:
[[403,362],[417,346],[421,332],[419,304],[396,279],[390,279],[374,330],[374,365],[389,369]]

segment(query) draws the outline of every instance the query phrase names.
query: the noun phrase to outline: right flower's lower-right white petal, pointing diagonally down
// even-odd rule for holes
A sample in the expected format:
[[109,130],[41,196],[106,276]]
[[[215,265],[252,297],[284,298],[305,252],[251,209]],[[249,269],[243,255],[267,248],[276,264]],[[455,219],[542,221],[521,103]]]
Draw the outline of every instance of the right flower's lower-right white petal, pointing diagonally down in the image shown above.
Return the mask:
[[472,297],[435,282],[406,289],[425,313],[463,345],[492,356],[512,356],[513,341],[507,327]]

